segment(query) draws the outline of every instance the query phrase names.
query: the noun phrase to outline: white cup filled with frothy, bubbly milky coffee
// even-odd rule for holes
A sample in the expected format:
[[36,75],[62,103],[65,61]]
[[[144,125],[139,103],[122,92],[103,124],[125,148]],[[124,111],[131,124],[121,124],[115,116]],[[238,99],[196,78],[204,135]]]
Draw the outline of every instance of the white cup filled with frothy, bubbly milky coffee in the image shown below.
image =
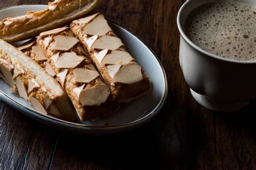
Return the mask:
[[177,24],[180,66],[199,104],[234,111],[256,98],[255,0],[188,0]]

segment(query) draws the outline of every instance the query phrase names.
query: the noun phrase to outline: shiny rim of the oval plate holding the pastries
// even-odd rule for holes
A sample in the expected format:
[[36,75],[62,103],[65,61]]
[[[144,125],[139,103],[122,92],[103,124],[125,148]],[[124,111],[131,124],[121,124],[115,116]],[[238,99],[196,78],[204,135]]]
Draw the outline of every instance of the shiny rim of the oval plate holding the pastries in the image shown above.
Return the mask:
[[[11,8],[19,8],[19,6],[47,6],[47,5],[17,5],[17,6],[9,6],[7,8],[3,8],[0,9],[0,12],[6,9],[11,9]],[[108,19],[109,20],[109,19]],[[24,107],[22,104],[19,104],[17,102],[15,102],[14,100],[12,100],[10,97],[4,95],[1,91],[0,91],[0,95],[3,96],[2,100],[8,104],[10,104],[12,107],[14,107],[15,109],[17,109],[18,111],[23,112],[23,114],[30,116],[32,118],[37,119],[38,121],[42,120],[44,122],[42,123],[50,123],[50,125],[57,125],[59,124],[60,126],[65,126],[65,128],[75,128],[75,129],[79,129],[79,130],[120,130],[120,129],[126,129],[126,128],[131,128],[133,126],[136,125],[142,125],[148,121],[150,121],[150,119],[152,119],[154,116],[156,116],[161,109],[163,109],[165,102],[167,100],[167,95],[168,95],[168,83],[167,83],[167,76],[164,70],[163,65],[161,64],[160,60],[157,58],[157,55],[152,51],[152,49],[145,44],[144,42],[142,42],[137,36],[134,36],[134,34],[132,34],[131,32],[127,31],[126,29],[124,29],[124,27],[120,26],[119,24],[112,22],[111,20],[109,20],[111,23],[117,25],[120,29],[122,29],[123,31],[125,31],[126,33],[130,34],[131,37],[136,38],[140,43],[142,43],[147,49],[150,50],[150,52],[154,55],[154,58],[156,59],[156,61],[158,62],[159,66],[161,67],[162,73],[164,75],[164,96],[161,98],[161,100],[159,101],[158,105],[146,116],[137,119],[136,121],[133,122],[129,122],[126,124],[122,124],[122,125],[116,125],[116,126],[90,126],[90,125],[84,125],[84,124],[78,124],[78,123],[73,123],[73,122],[67,122],[67,121],[63,121],[48,115],[42,115],[37,111],[33,111],[30,108],[26,108]],[[29,113],[28,113],[29,112]],[[57,123],[57,124],[56,124]]]

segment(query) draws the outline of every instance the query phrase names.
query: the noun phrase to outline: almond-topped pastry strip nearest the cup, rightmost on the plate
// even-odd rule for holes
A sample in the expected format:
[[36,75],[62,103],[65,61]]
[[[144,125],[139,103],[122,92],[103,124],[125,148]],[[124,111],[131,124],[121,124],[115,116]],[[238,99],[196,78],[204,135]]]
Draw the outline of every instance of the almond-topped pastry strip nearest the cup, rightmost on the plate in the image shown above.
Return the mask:
[[118,102],[130,102],[149,93],[149,77],[126,51],[102,14],[75,20],[70,27],[90,53]]

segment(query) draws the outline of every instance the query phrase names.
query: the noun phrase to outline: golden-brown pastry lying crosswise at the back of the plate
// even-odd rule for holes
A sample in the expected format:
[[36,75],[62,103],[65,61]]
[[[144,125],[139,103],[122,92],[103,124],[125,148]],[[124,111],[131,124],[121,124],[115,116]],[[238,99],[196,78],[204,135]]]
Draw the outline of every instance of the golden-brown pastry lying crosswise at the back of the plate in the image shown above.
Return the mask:
[[58,0],[49,3],[45,10],[2,20],[0,38],[7,42],[15,42],[35,37],[43,31],[67,25],[99,5],[100,0]]

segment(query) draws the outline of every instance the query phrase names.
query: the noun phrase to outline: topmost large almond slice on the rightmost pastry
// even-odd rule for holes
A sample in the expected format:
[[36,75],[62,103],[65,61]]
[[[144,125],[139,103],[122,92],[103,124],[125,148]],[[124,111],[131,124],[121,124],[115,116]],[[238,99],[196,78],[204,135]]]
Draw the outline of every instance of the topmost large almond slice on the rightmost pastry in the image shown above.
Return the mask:
[[102,14],[98,15],[89,24],[84,27],[83,34],[89,34],[90,36],[103,36],[112,31],[109,24]]

